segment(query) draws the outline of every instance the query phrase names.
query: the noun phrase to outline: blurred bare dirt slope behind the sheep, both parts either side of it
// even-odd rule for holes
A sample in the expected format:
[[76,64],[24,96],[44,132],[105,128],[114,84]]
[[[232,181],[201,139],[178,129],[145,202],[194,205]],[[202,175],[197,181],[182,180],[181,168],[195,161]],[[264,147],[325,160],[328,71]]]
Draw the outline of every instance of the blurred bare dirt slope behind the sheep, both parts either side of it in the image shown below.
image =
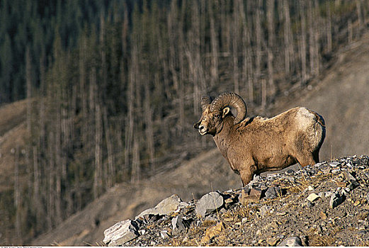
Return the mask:
[[[270,115],[293,106],[306,106],[327,123],[327,137],[321,159],[351,154],[369,154],[369,38],[346,47],[336,62],[311,82],[312,89],[290,92],[278,100]],[[163,198],[177,193],[183,201],[200,198],[213,190],[241,186],[217,150],[183,164],[174,171],[154,176],[140,184],[120,184],[88,207],[64,221],[50,233],[35,239],[33,245],[96,244],[103,230],[119,220],[133,218]]]

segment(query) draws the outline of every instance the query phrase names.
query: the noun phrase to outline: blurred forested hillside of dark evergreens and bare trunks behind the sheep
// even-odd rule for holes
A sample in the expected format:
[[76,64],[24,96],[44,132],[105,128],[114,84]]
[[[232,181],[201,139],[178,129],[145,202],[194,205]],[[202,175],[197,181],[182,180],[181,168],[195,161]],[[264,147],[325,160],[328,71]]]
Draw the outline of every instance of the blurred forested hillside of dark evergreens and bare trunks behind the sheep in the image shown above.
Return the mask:
[[367,0],[100,2],[0,3],[0,101],[27,98],[6,244],[206,148],[201,95],[234,91],[262,112],[368,31]]

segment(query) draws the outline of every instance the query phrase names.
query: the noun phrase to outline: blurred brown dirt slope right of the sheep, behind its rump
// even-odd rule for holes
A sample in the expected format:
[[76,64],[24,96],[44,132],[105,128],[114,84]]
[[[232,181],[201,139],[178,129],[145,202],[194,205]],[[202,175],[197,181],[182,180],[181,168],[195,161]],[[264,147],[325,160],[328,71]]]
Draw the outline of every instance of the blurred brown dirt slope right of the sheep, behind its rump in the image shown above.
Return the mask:
[[273,113],[305,106],[323,115],[327,136],[321,159],[369,153],[369,35],[346,47],[312,81],[312,89],[283,97]]

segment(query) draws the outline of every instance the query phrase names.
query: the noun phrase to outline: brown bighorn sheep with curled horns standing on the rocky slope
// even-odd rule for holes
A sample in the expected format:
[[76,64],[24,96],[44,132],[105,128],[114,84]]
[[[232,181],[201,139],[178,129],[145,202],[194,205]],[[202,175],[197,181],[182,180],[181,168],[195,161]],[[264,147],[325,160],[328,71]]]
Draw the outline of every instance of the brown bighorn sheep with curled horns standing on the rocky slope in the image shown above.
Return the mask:
[[[297,162],[302,167],[319,162],[326,131],[324,119],[314,111],[296,107],[273,118],[245,118],[246,104],[234,93],[220,94],[213,101],[203,97],[200,105],[203,114],[194,128],[200,135],[212,135],[244,186],[254,174]],[[229,107],[236,109],[236,117]]]

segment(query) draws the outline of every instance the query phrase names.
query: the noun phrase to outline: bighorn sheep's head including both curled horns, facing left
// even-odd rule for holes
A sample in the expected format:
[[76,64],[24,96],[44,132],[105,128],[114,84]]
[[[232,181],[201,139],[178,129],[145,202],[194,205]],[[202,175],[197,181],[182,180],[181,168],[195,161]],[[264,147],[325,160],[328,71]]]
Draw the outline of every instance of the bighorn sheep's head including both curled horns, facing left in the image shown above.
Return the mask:
[[193,125],[198,129],[200,135],[216,135],[223,128],[223,120],[229,113],[229,107],[237,110],[237,117],[234,118],[234,125],[244,120],[246,116],[246,104],[241,96],[234,93],[223,93],[217,96],[213,101],[205,96],[200,101],[203,113],[198,123]]

